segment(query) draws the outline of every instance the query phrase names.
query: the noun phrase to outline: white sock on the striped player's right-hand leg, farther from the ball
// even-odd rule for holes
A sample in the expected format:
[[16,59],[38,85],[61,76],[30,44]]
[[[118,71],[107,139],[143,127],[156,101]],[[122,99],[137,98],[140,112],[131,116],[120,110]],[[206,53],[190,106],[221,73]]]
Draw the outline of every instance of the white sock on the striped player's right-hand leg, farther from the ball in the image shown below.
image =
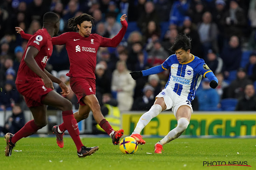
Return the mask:
[[160,145],[165,145],[166,143],[176,139],[177,137],[181,136],[181,134],[187,129],[189,124],[189,120],[185,117],[182,117],[178,120],[178,124],[176,128],[171,130],[162,140],[157,142]]

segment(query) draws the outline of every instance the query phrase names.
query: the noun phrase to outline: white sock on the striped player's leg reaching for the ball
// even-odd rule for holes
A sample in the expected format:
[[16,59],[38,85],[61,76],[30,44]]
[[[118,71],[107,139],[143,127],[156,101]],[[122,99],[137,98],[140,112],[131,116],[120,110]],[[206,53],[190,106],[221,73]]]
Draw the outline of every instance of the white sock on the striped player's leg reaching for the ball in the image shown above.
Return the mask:
[[159,104],[154,104],[149,111],[144,113],[141,117],[140,120],[138,121],[136,128],[132,132],[132,134],[140,134],[142,129],[159,113],[162,112],[162,107]]

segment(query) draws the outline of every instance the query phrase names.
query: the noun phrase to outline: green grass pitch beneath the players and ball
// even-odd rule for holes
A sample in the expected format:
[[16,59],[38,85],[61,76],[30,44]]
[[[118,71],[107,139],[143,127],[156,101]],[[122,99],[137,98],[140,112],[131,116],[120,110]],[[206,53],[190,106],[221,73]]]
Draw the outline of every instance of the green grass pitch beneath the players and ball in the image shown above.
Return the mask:
[[[256,138],[178,138],[163,146],[162,154],[154,154],[154,145],[161,138],[144,138],[135,154],[123,154],[111,138],[82,138],[88,146],[99,146],[91,156],[79,158],[75,145],[68,135],[64,147],[59,148],[53,137],[29,137],[17,142],[11,157],[4,155],[4,138],[0,140],[0,165],[3,170],[151,170],[151,169],[256,169]],[[152,153],[152,154],[148,154]],[[239,154],[238,154],[239,153]],[[203,162],[246,161],[248,166],[203,166]]]

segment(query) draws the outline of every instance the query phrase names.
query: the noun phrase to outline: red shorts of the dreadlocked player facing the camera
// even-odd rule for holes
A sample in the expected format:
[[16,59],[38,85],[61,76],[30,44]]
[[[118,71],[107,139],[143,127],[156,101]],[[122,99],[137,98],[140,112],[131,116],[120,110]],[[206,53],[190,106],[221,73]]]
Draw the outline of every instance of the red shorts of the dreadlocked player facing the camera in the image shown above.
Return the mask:
[[71,77],[70,87],[75,93],[78,103],[80,105],[86,105],[81,99],[87,95],[95,95],[96,81],[91,78]]

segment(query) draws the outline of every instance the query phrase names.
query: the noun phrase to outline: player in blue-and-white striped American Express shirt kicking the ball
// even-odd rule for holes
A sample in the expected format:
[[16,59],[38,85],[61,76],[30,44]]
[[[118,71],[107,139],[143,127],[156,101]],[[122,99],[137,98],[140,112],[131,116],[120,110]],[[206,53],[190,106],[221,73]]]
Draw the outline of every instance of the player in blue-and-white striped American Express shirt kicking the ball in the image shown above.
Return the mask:
[[170,48],[175,54],[169,56],[165,62],[147,70],[130,73],[132,78],[136,80],[142,76],[157,74],[170,68],[170,76],[165,89],[156,96],[154,105],[141,116],[131,134],[131,137],[135,138],[138,143],[145,144],[140,135],[142,129],[162,111],[172,109],[178,124],[176,128],[156,143],[155,153],[162,153],[163,145],[176,139],[187,129],[191,113],[193,113],[191,101],[195,97],[202,77],[207,77],[211,81],[211,88],[216,88],[218,85],[217,78],[204,63],[204,60],[190,53],[190,42],[191,39],[185,34],[178,35]]

